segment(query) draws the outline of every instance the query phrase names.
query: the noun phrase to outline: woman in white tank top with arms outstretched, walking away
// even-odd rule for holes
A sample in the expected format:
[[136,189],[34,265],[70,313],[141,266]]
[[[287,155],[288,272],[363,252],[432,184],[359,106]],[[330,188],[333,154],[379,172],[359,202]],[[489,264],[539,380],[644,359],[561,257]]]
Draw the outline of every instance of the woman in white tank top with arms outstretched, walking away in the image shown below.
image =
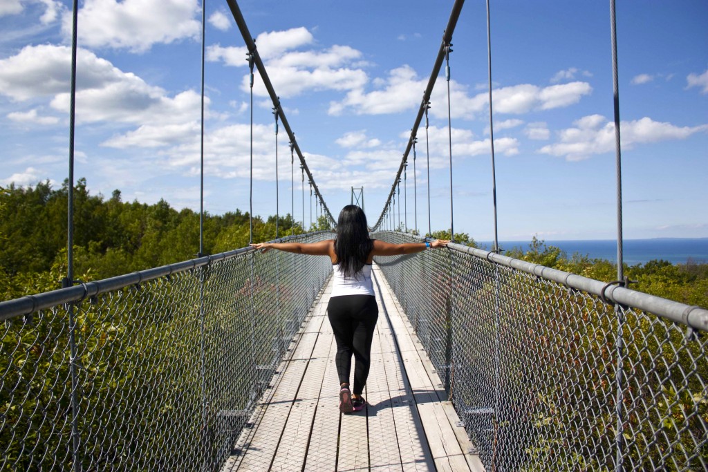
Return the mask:
[[[379,309],[371,280],[375,255],[419,253],[427,248],[441,248],[450,241],[390,244],[369,237],[366,215],[356,205],[347,205],[339,213],[334,239],[317,243],[251,244],[263,252],[278,249],[289,253],[329,255],[333,266],[333,288],[327,306],[329,322],[337,343],[335,357],[339,376],[339,410],[352,413],[364,408],[362,397],[369,375],[371,344]],[[354,355],[354,388],[349,388],[351,358]]]

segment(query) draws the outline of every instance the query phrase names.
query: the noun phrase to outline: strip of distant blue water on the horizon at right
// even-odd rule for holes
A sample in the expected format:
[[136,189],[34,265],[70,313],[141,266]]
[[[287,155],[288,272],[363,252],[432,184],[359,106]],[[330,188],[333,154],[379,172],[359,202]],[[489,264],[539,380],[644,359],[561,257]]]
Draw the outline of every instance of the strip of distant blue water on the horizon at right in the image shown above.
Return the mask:
[[[528,251],[531,241],[499,241],[503,251],[520,248]],[[544,241],[546,246],[556,246],[570,258],[573,253],[587,255],[590,259],[617,261],[617,241]],[[479,242],[481,248],[492,247],[491,241]],[[653,259],[668,260],[672,264],[685,264],[688,259],[708,263],[708,238],[655,238],[625,239],[622,258],[627,265],[644,264]]]

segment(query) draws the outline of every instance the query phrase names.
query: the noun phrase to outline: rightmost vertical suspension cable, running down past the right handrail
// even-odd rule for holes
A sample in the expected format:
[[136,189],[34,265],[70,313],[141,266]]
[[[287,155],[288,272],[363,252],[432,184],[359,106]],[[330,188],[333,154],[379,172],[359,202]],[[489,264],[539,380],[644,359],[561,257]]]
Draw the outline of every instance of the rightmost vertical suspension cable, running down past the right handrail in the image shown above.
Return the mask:
[[[624,262],[622,260],[622,153],[619,140],[619,79],[617,72],[617,22],[615,18],[615,0],[610,0],[610,35],[612,35],[612,100],[615,111],[615,167],[617,173],[617,280],[624,282]],[[624,282],[624,283],[623,283]],[[615,430],[615,471],[624,470],[622,465],[624,456],[624,416],[622,408],[624,404],[624,311],[619,304],[615,304],[615,316],[617,317],[617,372],[615,381],[617,383],[617,394],[615,399],[615,414],[617,415],[617,425]]]

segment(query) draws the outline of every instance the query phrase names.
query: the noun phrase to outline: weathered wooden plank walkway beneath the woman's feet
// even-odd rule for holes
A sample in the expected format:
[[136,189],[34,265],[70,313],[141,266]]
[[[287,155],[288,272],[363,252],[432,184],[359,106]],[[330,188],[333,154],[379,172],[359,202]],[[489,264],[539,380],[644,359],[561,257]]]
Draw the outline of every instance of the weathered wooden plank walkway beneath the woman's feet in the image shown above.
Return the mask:
[[365,410],[338,410],[331,286],[304,323],[222,468],[232,471],[484,471],[379,268],[379,321]]

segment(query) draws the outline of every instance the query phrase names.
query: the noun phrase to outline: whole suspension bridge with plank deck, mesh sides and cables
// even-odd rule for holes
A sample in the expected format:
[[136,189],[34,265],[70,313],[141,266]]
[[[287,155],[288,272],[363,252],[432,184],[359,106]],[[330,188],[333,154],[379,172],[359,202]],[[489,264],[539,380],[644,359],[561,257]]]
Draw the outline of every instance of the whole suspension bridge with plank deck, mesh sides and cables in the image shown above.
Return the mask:
[[[227,3],[302,180],[333,221],[244,16]],[[448,69],[463,4],[452,8],[372,237],[422,241],[394,231],[401,173]],[[613,1],[610,10],[614,39]],[[75,21],[76,2],[74,32]],[[75,74],[74,65],[72,96]],[[336,405],[328,258],[251,248],[203,255],[200,236],[193,260],[76,282],[69,191],[64,288],[0,302],[1,469],[706,470],[708,311],[626,286],[616,84],[617,280],[508,258],[496,238],[493,251],[450,243],[376,258],[382,316],[369,405],[353,415]],[[72,185],[73,117],[72,108]],[[451,147],[450,166],[452,188]],[[454,234],[452,201],[450,213]]]

